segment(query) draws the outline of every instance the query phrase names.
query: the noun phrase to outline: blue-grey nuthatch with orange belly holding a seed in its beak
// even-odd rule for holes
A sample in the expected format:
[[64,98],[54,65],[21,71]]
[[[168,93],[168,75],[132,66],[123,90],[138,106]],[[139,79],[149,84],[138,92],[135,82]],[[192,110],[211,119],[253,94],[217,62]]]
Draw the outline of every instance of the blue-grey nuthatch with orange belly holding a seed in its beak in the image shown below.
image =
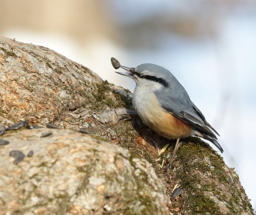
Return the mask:
[[177,139],[172,161],[179,140],[194,135],[212,142],[223,153],[213,133],[219,135],[218,132],[206,121],[171,72],[152,63],[144,63],[135,68],[121,66],[115,58],[111,58],[111,63],[115,69],[121,67],[128,71],[116,73],[136,82],[132,105],[142,121],[159,135]]

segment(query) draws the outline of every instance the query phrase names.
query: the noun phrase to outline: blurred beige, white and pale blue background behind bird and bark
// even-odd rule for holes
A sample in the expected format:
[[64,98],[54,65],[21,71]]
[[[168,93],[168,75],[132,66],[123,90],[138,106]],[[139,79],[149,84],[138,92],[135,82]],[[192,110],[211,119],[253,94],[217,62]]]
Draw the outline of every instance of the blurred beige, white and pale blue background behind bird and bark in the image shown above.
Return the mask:
[[256,208],[256,1],[1,0],[0,20],[1,36],[51,48],[132,92],[111,57],[170,70],[220,133]]

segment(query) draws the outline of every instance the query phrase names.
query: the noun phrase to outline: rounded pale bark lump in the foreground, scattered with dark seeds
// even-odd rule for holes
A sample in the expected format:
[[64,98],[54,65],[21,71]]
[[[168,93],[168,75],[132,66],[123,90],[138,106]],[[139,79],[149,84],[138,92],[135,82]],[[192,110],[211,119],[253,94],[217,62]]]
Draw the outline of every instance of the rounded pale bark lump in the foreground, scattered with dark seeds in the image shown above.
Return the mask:
[[[42,133],[52,135],[41,138]],[[4,135],[0,214],[168,214],[165,187],[146,160],[95,137],[40,128]],[[14,164],[12,150],[25,155]]]

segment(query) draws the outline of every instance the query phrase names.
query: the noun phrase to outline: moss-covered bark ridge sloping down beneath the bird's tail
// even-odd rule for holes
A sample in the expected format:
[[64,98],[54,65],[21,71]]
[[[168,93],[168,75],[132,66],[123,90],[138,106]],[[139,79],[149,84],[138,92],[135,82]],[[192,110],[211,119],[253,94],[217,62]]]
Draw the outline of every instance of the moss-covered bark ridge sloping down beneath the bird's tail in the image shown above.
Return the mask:
[[[170,153],[166,151],[165,155]],[[166,183],[181,185],[182,197],[175,206],[185,214],[253,214],[238,175],[228,168],[223,158],[199,138],[187,138],[177,152],[173,164],[172,180],[166,180],[166,173],[156,169],[158,176]],[[166,186],[168,188],[168,186]],[[168,191],[167,191],[168,193]],[[223,202],[222,203],[219,202]]]

